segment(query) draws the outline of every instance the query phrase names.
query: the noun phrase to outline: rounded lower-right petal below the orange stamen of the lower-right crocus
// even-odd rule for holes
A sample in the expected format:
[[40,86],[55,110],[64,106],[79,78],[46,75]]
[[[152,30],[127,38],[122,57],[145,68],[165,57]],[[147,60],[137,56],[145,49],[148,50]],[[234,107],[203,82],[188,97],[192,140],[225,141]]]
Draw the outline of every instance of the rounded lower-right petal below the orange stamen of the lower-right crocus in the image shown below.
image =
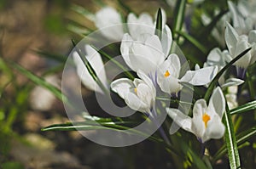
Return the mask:
[[207,129],[204,136],[201,138],[202,143],[206,142],[210,138],[218,139],[224,136],[225,127],[221,122],[221,118],[218,115],[212,116],[211,121],[207,124]]

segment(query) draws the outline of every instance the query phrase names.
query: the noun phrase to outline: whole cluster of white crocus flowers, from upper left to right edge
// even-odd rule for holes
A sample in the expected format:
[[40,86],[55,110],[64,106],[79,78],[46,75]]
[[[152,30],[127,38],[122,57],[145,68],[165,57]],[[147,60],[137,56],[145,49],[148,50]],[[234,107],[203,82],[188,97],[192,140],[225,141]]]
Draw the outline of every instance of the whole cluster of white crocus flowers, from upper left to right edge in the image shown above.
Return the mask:
[[[234,5],[229,3],[232,13]],[[234,13],[234,12],[233,12]],[[234,15],[234,14],[233,14]],[[183,82],[193,86],[207,86],[219,70],[221,70],[231,59],[241,54],[245,49],[253,47],[242,59],[236,62],[241,68],[247,68],[256,60],[256,30],[248,31],[248,34],[239,34],[229,23],[226,24],[224,33],[227,50],[223,52],[219,48],[213,48],[207,56],[207,62],[203,68],[198,65],[195,70],[187,70],[181,75],[181,61],[177,54],[171,54],[172,31],[166,25],[166,14],[162,10],[161,36],[154,34],[155,21],[147,13],[128,14],[127,27],[122,25],[121,15],[111,7],[102,8],[96,13],[96,26],[101,29],[102,35],[108,39],[120,41],[120,53],[131,70],[137,72],[138,78],[133,81],[128,78],[119,78],[109,84],[102,62],[101,55],[89,45],[85,46],[85,57],[96,71],[96,75],[105,87],[110,86],[114,93],[133,110],[152,114],[156,88],[162,93],[170,95],[179,93],[183,88]],[[235,16],[234,16],[235,17]],[[233,18],[234,19],[234,18]],[[117,26],[116,29],[102,29],[104,27]],[[73,59],[77,65],[77,71],[84,85],[96,92],[102,93],[102,89],[96,84],[86,69],[77,52],[73,53]],[[219,79],[221,87],[240,85],[243,81],[237,78],[227,80],[222,76]],[[217,87],[207,105],[207,101],[199,99],[194,104],[193,118],[184,115],[183,112],[173,108],[166,108],[166,112],[184,130],[193,132],[202,143],[210,138],[222,138],[224,135],[224,124],[221,122],[225,110],[225,99],[221,87]]]

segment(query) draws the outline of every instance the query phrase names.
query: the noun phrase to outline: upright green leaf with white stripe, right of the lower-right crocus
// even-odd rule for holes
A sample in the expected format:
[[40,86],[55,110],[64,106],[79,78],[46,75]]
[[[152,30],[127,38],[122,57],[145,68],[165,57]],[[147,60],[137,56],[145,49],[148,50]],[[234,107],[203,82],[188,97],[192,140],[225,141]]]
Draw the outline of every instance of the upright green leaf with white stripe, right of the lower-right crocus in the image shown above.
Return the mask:
[[224,112],[224,125],[226,131],[224,134],[225,143],[228,149],[228,155],[230,160],[230,168],[241,168],[240,157],[236,143],[236,136],[234,132],[233,122],[231,120],[230,110],[228,104],[226,104],[226,112]]

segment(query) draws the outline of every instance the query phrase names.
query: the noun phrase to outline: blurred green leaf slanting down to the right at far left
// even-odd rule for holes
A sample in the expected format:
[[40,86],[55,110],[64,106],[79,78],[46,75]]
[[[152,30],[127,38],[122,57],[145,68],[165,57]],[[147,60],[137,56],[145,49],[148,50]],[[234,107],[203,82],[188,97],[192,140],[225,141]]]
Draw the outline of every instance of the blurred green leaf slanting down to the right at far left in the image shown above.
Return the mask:
[[36,83],[37,85],[39,85],[41,87],[44,87],[44,88],[48,89],[51,93],[53,93],[55,95],[55,97],[57,99],[60,99],[64,103],[68,104],[67,97],[64,94],[61,93],[61,90],[59,90],[58,88],[52,86],[51,84],[49,84],[49,82],[44,81],[44,79],[42,77],[38,77],[38,76],[34,75],[31,71],[26,70],[25,68],[23,68],[22,66],[20,66],[18,64],[12,63],[11,65],[16,70],[19,70],[19,72],[21,74],[26,76],[32,82]]

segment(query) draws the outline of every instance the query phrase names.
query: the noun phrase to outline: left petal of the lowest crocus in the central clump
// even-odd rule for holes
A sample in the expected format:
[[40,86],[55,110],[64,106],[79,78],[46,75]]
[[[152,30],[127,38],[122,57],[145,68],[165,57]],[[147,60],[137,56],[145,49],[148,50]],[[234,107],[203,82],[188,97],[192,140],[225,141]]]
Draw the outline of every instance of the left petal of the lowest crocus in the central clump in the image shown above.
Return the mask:
[[134,87],[130,79],[120,78],[113,81],[110,84],[113,92],[118,93],[122,99],[125,99],[125,95],[130,92],[131,87]]

